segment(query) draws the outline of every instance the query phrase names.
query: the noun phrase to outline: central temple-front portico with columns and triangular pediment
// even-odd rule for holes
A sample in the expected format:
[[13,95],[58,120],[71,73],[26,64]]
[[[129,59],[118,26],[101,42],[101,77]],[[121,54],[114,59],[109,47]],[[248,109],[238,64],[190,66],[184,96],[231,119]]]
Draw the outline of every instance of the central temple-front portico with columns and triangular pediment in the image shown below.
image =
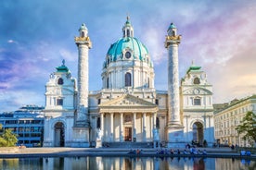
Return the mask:
[[102,141],[153,141],[158,106],[124,94],[99,104]]

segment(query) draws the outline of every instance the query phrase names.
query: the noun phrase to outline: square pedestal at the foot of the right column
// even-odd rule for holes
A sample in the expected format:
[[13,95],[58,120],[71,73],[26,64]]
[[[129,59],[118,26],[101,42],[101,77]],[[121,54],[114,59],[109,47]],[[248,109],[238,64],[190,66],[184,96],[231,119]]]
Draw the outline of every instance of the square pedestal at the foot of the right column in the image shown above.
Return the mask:
[[185,148],[184,127],[180,124],[171,124],[166,128],[167,147]]

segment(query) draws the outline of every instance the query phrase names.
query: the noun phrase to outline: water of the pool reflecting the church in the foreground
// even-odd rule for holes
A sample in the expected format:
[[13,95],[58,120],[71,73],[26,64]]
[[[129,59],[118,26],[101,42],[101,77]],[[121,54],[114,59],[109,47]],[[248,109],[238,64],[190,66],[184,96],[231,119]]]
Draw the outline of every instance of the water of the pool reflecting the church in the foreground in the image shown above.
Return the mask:
[[172,158],[172,157],[52,157],[0,159],[0,169],[255,169],[256,162],[223,158]]

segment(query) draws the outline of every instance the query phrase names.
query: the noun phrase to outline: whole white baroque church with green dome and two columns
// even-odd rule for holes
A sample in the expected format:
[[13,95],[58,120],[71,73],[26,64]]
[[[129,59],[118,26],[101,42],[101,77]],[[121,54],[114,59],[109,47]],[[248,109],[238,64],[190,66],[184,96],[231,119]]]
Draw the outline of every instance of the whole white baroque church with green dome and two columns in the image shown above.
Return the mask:
[[[78,74],[62,62],[45,85],[45,147],[184,147],[192,140],[213,143],[212,86],[192,65],[179,80],[181,35],[167,30],[168,91],[155,89],[154,65],[147,47],[134,37],[130,18],[122,38],[102,57],[102,89],[89,91],[92,42],[85,24],[75,37]],[[100,78],[99,78],[100,79]]]

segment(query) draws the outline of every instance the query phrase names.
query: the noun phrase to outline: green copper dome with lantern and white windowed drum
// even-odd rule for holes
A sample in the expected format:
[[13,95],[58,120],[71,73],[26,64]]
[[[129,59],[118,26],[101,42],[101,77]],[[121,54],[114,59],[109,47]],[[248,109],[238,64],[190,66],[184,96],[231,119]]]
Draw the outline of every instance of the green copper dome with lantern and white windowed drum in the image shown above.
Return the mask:
[[134,38],[127,17],[122,38],[110,45],[102,71],[103,89],[154,88],[154,68],[147,47]]

